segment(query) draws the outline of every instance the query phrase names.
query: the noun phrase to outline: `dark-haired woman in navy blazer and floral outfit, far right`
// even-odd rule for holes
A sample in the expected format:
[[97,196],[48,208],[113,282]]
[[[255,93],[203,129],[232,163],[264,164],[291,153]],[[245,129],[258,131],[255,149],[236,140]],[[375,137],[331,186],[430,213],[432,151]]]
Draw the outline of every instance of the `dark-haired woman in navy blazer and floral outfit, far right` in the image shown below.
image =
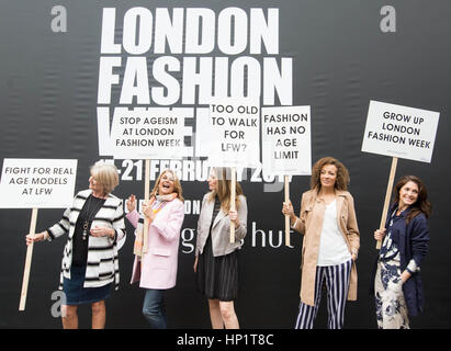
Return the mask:
[[380,329],[408,329],[408,315],[422,312],[420,267],[428,251],[430,213],[422,181],[402,177],[385,228],[374,231],[374,238],[383,240],[371,283]]

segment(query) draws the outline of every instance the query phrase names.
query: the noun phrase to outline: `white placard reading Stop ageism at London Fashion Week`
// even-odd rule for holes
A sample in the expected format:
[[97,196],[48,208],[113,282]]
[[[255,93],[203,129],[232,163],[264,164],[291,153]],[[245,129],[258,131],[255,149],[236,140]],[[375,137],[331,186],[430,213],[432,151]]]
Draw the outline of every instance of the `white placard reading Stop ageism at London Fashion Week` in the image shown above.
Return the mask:
[[116,107],[111,129],[116,159],[181,159],[185,155],[184,136],[191,128],[188,107]]

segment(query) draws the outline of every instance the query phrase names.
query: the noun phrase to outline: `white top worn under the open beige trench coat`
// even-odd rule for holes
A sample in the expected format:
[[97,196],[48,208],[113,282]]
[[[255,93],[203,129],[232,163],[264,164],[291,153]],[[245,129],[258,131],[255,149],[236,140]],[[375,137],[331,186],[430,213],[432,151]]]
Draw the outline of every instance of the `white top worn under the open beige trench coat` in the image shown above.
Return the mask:
[[337,201],[326,205],[317,265],[337,265],[352,258],[337,222]]

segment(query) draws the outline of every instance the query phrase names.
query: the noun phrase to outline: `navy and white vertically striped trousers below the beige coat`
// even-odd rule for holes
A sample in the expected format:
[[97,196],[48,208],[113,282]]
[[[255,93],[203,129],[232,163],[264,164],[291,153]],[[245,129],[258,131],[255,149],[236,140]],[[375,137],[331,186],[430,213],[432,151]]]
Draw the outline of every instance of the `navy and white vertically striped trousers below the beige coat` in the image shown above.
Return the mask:
[[295,329],[313,329],[322,298],[323,282],[327,286],[328,329],[341,329],[345,321],[345,306],[348,298],[352,260],[342,264],[317,267],[315,276],[315,306],[301,302]]

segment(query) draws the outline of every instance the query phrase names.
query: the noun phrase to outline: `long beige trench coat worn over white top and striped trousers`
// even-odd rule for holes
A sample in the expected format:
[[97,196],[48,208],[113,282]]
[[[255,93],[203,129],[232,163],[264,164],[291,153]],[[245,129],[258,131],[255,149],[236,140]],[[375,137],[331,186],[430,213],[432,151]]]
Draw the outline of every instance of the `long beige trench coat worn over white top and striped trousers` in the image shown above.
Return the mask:
[[[336,194],[338,227],[346,239],[349,252],[357,256],[360,236],[352,195],[347,191],[336,191]],[[300,218],[293,226],[293,229],[304,234],[301,258],[301,301],[311,306],[315,305],[316,263],[325,211],[326,203],[317,196],[316,189],[309,190],[302,195]],[[356,262],[352,263],[348,299],[357,299]]]

